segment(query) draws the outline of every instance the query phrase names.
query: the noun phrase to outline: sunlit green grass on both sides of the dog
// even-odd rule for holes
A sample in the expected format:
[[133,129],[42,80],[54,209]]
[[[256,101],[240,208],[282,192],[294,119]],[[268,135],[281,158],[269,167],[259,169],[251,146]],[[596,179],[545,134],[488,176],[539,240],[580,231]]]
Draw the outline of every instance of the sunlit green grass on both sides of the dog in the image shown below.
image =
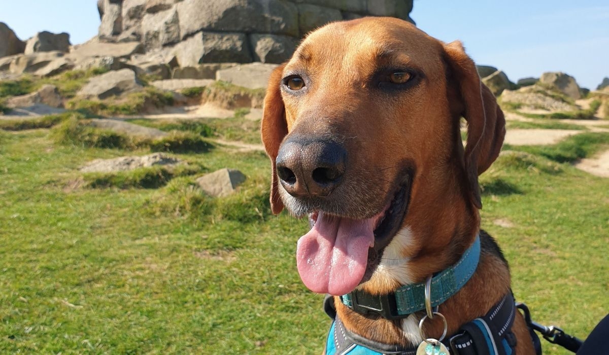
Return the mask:
[[[329,318],[295,268],[307,223],[270,214],[264,154],[176,155],[244,172],[220,199],[190,174],[144,189],[144,170],[113,188],[66,189],[87,161],[133,150],[57,144],[60,126],[0,130],[0,353],[320,353]],[[609,308],[609,200],[607,179],[568,161],[608,137],[506,147],[481,177],[482,227],[510,262],[516,298],[536,322],[581,338]],[[139,182],[120,182],[130,178]]]

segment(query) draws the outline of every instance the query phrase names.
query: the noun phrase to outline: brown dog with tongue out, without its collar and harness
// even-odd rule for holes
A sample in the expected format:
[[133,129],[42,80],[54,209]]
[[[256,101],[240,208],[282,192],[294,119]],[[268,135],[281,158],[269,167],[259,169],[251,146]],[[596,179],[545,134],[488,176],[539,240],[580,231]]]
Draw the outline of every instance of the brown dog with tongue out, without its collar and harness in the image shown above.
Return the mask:
[[[335,296],[391,293],[455,264],[480,234],[476,271],[438,311],[448,334],[485,315],[510,292],[507,262],[479,231],[478,212],[477,177],[498,156],[504,126],[458,41],[395,18],[310,33],[270,77],[262,119],[273,213],[285,206],[313,225],[297,250],[306,286]],[[345,329],[375,342],[416,346],[443,332],[434,318],[421,334],[425,311],[392,320],[335,303]],[[533,353],[519,314],[512,332],[516,353]]]

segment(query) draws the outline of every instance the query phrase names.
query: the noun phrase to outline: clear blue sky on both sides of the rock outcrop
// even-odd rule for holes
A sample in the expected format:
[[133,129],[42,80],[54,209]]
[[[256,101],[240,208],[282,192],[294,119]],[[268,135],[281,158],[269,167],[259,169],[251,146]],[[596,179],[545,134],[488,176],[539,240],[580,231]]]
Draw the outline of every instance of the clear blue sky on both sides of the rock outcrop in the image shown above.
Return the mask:
[[[411,16],[429,35],[463,41],[476,63],[513,81],[563,71],[596,88],[609,77],[607,0],[415,0]],[[22,40],[48,30],[68,32],[72,44],[99,26],[95,0],[0,0],[0,21]]]

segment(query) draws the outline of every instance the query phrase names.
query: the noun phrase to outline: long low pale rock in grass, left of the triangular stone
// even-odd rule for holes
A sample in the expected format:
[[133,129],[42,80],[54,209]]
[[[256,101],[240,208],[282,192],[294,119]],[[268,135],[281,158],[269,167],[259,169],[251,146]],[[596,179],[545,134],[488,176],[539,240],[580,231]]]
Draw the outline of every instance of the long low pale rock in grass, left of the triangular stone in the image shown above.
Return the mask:
[[180,163],[182,163],[181,160],[172,158],[164,153],[153,153],[144,156],[120,156],[113,159],[96,159],[86,163],[79,170],[81,172],[115,172],[155,165],[175,166]]

